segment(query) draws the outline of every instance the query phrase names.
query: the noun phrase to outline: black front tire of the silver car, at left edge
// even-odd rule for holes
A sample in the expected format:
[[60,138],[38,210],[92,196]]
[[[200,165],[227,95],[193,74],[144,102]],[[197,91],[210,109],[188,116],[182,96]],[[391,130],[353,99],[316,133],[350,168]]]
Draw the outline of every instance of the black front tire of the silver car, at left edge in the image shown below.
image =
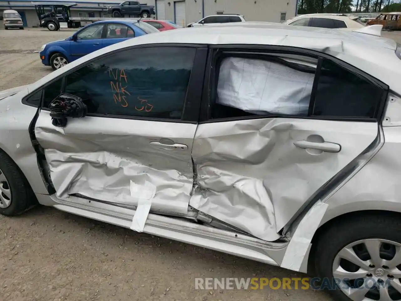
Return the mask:
[[[10,197],[7,197],[4,189],[10,193]],[[0,214],[2,215],[17,216],[37,204],[28,181],[14,161],[2,150],[0,150],[0,190]],[[5,203],[7,199],[8,204]]]

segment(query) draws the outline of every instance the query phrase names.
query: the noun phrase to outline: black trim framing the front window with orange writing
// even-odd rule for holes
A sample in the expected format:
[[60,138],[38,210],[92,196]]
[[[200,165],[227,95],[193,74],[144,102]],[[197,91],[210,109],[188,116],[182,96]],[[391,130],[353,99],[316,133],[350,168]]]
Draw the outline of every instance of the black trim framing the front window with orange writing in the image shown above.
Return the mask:
[[[76,70],[84,67],[85,65],[88,65],[94,61],[97,61],[98,59],[103,59],[105,57],[114,55],[114,54],[122,52],[122,51],[127,51],[127,50],[131,50],[131,49],[149,48],[149,47],[183,47],[183,48],[191,47],[191,48],[196,49],[194,64],[192,66],[192,71],[191,71],[191,75],[190,75],[190,78],[188,81],[188,87],[186,90],[186,96],[185,96],[184,104],[182,107],[181,119],[154,118],[154,117],[144,117],[144,116],[111,115],[111,114],[106,115],[106,114],[96,114],[96,113],[90,113],[90,114],[87,114],[86,116],[196,124],[198,122],[198,118],[199,118],[199,110],[201,107],[201,96],[202,96],[202,91],[203,91],[203,81],[199,80],[199,79],[204,78],[205,66],[206,66],[206,60],[207,60],[208,45],[205,45],[205,44],[157,43],[157,44],[134,45],[131,47],[116,49],[114,51],[110,51],[108,53],[105,53],[103,55],[100,55],[98,57],[90,59],[88,61],[85,61],[84,63],[68,70],[67,72],[55,77],[51,81],[48,81],[47,83],[41,85],[40,87],[36,88],[35,90],[33,90],[32,92],[27,94],[22,99],[22,104],[25,104],[28,106],[33,106],[33,107],[37,108],[37,106],[35,106],[33,104],[29,104],[27,102],[27,100],[30,98],[30,96],[34,95],[40,89],[45,89],[47,86],[51,85],[52,83],[54,83],[55,81],[58,81],[61,78],[62,78],[62,85],[61,85],[62,90],[60,91],[60,93],[62,93],[62,91],[65,90],[65,79],[66,79],[67,75],[75,72]],[[49,111],[48,108],[43,108],[43,93],[42,93],[42,100],[41,100],[41,104],[40,104],[39,108],[40,108],[40,110]]]

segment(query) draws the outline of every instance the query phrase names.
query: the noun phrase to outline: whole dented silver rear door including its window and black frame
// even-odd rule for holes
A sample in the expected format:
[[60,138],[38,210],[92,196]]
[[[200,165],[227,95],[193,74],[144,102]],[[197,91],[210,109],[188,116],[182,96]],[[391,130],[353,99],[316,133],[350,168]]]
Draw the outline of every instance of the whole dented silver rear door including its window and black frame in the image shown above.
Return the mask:
[[215,50],[190,205],[273,241],[375,141],[388,86],[322,53],[266,48]]

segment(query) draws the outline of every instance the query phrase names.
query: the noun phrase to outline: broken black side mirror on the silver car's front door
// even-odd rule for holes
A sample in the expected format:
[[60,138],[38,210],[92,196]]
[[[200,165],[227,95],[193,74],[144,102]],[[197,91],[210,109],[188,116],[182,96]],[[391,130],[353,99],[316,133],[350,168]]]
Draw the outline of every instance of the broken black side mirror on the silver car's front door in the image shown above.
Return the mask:
[[54,126],[65,127],[67,117],[85,117],[88,108],[78,96],[63,93],[57,96],[49,105],[51,123]]

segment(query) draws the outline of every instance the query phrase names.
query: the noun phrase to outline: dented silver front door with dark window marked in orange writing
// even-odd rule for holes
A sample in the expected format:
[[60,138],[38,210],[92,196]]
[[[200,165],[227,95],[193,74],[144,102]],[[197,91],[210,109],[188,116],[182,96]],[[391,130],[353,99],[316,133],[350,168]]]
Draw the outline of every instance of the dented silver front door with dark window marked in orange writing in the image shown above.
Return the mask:
[[59,198],[137,206],[146,197],[152,209],[187,212],[197,117],[188,120],[184,104],[187,95],[196,102],[187,94],[195,55],[191,47],[129,49],[61,77],[59,93],[81,98],[88,115],[55,126],[48,99],[36,120]]

